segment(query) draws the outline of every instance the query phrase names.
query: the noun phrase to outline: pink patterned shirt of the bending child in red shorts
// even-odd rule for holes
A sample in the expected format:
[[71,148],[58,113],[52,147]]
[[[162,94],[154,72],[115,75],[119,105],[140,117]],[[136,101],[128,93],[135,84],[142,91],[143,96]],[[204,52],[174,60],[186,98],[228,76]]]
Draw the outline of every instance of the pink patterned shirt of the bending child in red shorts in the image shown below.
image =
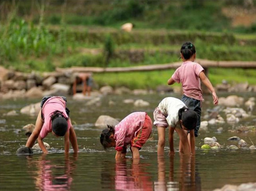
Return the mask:
[[143,127],[146,112],[133,112],[115,126],[116,151],[122,151]]

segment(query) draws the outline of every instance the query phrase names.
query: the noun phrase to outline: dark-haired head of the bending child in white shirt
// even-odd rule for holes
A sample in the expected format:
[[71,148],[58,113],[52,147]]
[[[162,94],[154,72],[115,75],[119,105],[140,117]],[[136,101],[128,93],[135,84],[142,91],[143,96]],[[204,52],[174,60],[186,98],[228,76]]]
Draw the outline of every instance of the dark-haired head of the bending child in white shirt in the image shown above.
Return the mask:
[[196,124],[198,123],[198,114],[193,110],[183,107],[178,110],[178,120],[182,120],[182,124],[186,129],[193,130],[196,128]]

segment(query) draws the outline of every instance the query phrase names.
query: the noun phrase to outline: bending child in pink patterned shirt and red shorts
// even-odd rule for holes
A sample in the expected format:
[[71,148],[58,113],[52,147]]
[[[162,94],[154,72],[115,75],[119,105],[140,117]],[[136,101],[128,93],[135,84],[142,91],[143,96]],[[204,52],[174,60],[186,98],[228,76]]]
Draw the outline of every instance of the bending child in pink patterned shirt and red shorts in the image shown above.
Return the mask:
[[152,120],[146,112],[133,112],[115,127],[107,126],[100,136],[104,149],[115,147],[116,160],[125,158],[127,146],[131,145],[132,158],[140,158],[139,150],[152,131]]

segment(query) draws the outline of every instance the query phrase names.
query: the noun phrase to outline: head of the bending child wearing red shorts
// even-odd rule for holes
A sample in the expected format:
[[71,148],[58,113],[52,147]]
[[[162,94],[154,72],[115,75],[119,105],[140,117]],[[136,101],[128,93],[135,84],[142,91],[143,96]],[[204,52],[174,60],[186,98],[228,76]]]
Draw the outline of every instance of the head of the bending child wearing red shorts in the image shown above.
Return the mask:
[[115,129],[113,126],[109,126],[109,125],[107,125],[107,129],[104,129],[101,132],[100,143],[104,149],[113,147],[116,145],[114,135],[115,135]]

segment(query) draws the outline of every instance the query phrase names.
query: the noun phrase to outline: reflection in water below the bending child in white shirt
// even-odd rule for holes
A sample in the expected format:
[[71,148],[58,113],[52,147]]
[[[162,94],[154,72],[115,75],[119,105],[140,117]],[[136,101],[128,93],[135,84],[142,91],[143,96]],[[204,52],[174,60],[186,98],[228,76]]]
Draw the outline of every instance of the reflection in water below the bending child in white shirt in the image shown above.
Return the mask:
[[158,157],[158,181],[154,183],[155,190],[201,190],[201,179],[196,171],[195,156],[180,155],[176,171],[174,161],[174,156],[170,156],[169,181],[167,181],[165,158]]

